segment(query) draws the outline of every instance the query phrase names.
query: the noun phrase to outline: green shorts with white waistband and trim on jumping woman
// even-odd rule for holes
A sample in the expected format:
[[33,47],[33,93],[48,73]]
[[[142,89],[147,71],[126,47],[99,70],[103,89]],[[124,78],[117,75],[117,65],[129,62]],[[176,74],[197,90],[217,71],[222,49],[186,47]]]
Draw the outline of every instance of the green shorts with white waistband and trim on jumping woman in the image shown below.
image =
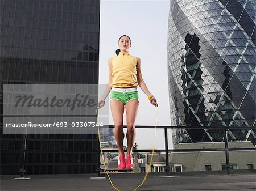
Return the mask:
[[112,88],[110,91],[110,100],[120,100],[125,105],[128,101],[139,100],[138,91],[136,88]]

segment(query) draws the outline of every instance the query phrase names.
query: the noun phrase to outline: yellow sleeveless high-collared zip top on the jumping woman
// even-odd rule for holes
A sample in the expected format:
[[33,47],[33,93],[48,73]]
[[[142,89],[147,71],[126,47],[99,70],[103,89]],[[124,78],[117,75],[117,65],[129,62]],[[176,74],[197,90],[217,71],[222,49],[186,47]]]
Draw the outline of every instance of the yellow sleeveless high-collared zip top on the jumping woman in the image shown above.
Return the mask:
[[135,87],[137,88],[137,57],[129,52],[112,57],[112,83],[111,87]]

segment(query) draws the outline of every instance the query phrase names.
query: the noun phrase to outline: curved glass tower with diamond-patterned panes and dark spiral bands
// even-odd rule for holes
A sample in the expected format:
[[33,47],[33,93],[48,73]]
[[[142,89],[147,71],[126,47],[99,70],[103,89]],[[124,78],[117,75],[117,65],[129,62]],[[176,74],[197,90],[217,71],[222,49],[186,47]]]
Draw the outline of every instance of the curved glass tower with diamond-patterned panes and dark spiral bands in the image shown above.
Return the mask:
[[229,141],[255,145],[255,24],[253,0],[171,0],[171,125],[187,127],[172,131],[174,146],[223,141],[222,131],[207,126],[237,127],[228,131]]

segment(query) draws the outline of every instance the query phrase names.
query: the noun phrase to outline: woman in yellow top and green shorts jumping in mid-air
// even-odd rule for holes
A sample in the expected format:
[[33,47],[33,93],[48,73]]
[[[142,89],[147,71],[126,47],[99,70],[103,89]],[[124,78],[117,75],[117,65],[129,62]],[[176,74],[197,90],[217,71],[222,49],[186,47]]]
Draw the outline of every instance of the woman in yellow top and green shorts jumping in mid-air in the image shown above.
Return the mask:
[[[110,92],[110,108],[114,121],[114,137],[119,150],[118,168],[133,168],[132,150],[135,140],[135,120],[138,111],[139,97],[137,87],[148,96],[150,103],[158,107],[155,97],[148,90],[146,83],[142,79],[141,60],[129,53],[131,39],[123,35],[118,40],[119,49],[117,56],[108,61],[109,82],[104,95],[98,101],[98,108],[102,108],[105,99]],[[127,154],[125,163],[125,153],[123,151],[123,112],[126,111],[127,118]]]

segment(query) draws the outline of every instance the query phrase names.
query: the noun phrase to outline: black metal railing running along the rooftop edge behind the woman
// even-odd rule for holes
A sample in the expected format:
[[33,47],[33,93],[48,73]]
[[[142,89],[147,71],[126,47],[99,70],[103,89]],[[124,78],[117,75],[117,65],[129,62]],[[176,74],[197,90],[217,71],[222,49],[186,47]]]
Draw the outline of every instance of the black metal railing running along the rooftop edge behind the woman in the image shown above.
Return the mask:
[[[114,126],[110,125],[109,128],[114,128]],[[123,128],[126,128],[126,126],[123,126]],[[154,129],[155,126],[136,126],[137,129]],[[203,148],[203,149],[169,149],[168,148],[168,129],[180,129],[180,128],[185,128],[185,129],[220,129],[223,131],[223,135],[224,135],[224,143],[225,143],[225,148]],[[204,152],[204,151],[225,151],[225,158],[226,158],[226,172],[229,174],[230,173],[230,162],[229,162],[229,151],[245,151],[245,150],[256,150],[256,148],[228,148],[228,134],[227,134],[227,130],[241,130],[241,129],[245,129],[245,130],[251,130],[253,129],[254,131],[256,131],[256,128],[251,128],[251,127],[202,127],[202,126],[193,126],[193,127],[188,127],[188,126],[158,126],[157,129],[164,129],[164,145],[165,148],[164,149],[155,149],[155,152],[165,152],[166,155],[166,175],[169,176],[170,175],[170,165],[169,165],[169,152]],[[22,149],[21,150],[5,150],[5,149],[1,149],[2,152],[6,152],[6,153],[20,153],[22,154],[22,157],[20,158],[20,177],[24,176],[24,172],[26,172],[25,168],[25,154],[27,153],[47,153],[50,152],[52,150],[29,150],[26,148],[26,134],[23,134],[23,138],[22,138]],[[125,150],[126,151],[126,150]],[[136,149],[133,150],[133,152],[151,152],[152,149]],[[55,153],[62,153],[62,152],[67,152],[67,153],[97,153],[98,157],[97,157],[97,176],[100,177],[100,172],[101,172],[101,150],[100,150],[100,144],[98,144],[98,148],[97,149],[93,149],[93,150],[54,150]],[[118,149],[104,149],[103,152],[118,152]]]

